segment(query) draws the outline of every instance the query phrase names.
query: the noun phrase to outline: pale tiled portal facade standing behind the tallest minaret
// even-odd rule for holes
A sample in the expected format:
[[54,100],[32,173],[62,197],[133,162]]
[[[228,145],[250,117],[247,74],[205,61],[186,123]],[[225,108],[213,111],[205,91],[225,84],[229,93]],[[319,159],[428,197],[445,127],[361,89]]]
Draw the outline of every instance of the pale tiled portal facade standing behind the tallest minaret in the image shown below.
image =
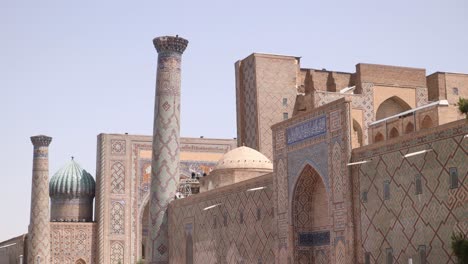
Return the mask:
[[[209,172],[235,140],[181,139],[181,177]],[[135,263],[142,257],[151,178],[150,136],[101,134],[98,140],[96,221],[98,263]],[[142,243],[143,242],[143,243]],[[123,245],[123,246],[121,246]]]

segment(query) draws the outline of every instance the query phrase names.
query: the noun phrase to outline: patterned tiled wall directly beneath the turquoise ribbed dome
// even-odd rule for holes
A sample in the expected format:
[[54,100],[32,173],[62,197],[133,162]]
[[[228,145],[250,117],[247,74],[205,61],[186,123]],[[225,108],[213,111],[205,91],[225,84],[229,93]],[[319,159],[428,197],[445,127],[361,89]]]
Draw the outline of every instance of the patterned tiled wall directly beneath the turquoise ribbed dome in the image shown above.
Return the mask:
[[50,223],[52,264],[96,261],[95,223]]

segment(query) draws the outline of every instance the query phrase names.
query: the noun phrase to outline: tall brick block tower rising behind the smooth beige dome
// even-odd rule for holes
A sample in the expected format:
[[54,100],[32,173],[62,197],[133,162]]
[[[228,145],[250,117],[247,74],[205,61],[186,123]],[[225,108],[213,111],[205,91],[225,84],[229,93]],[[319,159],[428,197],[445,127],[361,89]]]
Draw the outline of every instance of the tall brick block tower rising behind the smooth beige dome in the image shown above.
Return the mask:
[[241,61],[236,80],[239,143],[273,158],[271,126],[291,117],[297,60],[253,54]]

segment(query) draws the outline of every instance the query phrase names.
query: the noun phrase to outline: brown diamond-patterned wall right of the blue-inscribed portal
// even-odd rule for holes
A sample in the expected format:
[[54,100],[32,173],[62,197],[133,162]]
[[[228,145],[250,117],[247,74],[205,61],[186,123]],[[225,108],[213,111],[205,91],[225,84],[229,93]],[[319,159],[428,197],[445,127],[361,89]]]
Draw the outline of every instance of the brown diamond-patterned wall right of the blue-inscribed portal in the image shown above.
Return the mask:
[[[427,263],[455,263],[450,236],[468,234],[466,134],[468,121],[461,120],[353,150],[354,161],[371,160],[352,173],[360,263],[365,253],[371,263],[384,263],[389,248],[393,263],[408,263],[408,258],[420,263],[420,247],[426,249]],[[421,150],[431,151],[403,157]],[[456,188],[450,185],[455,170]]]

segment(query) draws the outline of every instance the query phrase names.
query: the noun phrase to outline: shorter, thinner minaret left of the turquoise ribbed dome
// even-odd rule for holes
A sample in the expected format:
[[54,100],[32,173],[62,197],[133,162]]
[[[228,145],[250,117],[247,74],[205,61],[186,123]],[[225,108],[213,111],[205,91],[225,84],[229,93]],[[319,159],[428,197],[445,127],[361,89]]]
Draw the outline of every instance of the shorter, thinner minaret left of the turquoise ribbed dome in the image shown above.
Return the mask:
[[34,145],[28,264],[50,263],[49,144],[48,136],[31,137]]

